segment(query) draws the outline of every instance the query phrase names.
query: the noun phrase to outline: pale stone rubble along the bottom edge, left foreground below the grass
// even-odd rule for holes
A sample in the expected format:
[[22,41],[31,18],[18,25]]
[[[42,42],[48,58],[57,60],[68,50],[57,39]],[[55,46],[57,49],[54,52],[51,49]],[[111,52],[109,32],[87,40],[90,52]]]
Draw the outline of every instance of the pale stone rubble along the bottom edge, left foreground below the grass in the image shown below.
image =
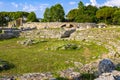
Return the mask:
[[26,73],[19,76],[0,78],[0,80],[56,80],[52,73]]

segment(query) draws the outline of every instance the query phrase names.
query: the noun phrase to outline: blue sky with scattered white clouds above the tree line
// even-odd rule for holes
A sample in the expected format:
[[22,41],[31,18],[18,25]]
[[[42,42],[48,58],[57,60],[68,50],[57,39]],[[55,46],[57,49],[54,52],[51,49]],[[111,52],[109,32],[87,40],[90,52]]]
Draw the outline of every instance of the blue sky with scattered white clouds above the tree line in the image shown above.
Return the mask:
[[60,3],[67,14],[69,10],[77,8],[79,1],[98,7],[120,6],[120,0],[0,0],[0,11],[34,11],[37,17],[42,18],[46,7]]

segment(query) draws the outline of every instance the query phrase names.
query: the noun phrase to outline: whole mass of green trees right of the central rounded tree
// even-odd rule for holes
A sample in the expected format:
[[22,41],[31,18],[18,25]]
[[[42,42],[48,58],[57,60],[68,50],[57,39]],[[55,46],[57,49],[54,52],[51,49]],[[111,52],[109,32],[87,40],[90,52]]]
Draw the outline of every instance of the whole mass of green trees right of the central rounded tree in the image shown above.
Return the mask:
[[67,21],[72,22],[104,22],[107,24],[120,25],[120,8],[102,6],[85,6],[82,1],[78,3],[78,9],[72,9],[67,14]]

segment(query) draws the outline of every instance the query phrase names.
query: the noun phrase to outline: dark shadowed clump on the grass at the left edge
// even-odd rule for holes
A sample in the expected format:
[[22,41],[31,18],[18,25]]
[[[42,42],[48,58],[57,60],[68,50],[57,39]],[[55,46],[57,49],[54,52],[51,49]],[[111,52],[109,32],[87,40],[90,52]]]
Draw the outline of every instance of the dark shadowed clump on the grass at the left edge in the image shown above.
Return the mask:
[[3,70],[9,70],[14,67],[14,64],[9,63],[8,61],[0,60],[0,72],[2,72]]

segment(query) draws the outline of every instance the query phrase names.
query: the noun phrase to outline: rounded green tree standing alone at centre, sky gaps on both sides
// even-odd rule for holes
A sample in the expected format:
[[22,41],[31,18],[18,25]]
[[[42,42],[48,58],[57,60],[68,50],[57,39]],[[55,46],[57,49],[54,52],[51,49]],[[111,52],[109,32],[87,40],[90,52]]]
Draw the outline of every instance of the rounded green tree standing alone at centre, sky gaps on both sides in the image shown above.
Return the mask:
[[51,8],[46,8],[44,12],[44,21],[46,22],[61,22],[64,21],[64,9],[61,4],[56,4],[51,6]]

